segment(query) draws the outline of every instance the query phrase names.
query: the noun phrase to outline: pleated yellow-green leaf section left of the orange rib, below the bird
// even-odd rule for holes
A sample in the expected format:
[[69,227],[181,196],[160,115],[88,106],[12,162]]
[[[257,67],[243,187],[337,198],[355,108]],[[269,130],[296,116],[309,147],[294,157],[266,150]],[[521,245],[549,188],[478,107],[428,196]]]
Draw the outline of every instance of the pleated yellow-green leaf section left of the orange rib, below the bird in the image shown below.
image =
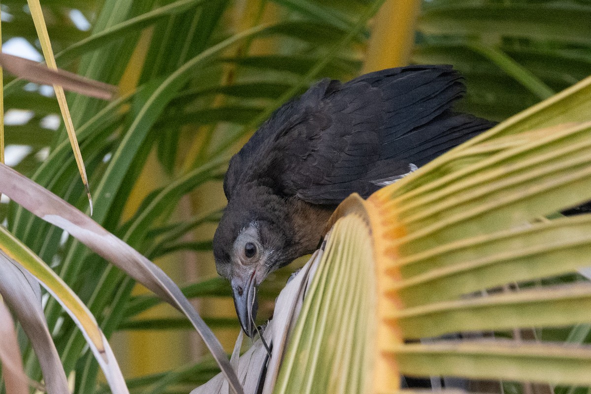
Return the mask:
[[349,198],[333,218],[274,393],[372,392],[376,292],[363,201]]

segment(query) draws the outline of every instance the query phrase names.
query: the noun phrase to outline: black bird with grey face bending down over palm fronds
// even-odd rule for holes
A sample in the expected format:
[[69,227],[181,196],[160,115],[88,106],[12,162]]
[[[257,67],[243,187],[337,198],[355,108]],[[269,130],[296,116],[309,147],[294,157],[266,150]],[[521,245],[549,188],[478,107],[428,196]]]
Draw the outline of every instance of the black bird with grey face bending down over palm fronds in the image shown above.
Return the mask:
[[409,66],[347,83],[323,79],[286,103],[230,161],[228,206],[213,238],[243,330],[254,336],[256,288],[316,250],[342,200],[394,182],[494,123],[457,113],[451,66]]

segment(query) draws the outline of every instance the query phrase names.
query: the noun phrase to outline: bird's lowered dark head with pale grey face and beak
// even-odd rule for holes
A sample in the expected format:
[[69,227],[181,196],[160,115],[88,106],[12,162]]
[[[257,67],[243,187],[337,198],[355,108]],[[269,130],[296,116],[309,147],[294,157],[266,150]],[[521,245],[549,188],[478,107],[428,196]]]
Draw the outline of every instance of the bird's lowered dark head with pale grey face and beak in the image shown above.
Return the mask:
[[290,226],[281,223],[287,220],[285,203],[278,200],[263,193],[256,201],[229,201],[213,237],[217,272],[230,281],[236,314],[250,337],[256,333],[258,286],[298,257],[291,252]]

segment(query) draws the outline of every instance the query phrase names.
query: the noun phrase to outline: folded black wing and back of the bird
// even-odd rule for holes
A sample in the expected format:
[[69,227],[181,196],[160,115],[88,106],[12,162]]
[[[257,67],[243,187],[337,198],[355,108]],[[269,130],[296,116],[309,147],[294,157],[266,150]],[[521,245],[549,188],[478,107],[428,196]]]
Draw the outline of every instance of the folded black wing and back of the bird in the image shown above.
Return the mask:
[[451,110],[463,90],[450,66],[323,80],[278,110],[232,159],[226,196],[255,180],[313,204],[368,196],[493,125]]

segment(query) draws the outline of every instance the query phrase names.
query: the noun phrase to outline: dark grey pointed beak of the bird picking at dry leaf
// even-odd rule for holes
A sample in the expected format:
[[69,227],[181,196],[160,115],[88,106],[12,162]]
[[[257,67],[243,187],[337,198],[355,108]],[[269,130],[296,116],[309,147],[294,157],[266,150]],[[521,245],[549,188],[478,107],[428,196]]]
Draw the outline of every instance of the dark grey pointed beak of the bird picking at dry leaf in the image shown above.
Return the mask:
[[256,333],[255,318],[258,310],[255,274],[256,271],[253,271],[246,278],[235,277],[232,279],[232,293],[236,314],[242,330],[251,338]]

